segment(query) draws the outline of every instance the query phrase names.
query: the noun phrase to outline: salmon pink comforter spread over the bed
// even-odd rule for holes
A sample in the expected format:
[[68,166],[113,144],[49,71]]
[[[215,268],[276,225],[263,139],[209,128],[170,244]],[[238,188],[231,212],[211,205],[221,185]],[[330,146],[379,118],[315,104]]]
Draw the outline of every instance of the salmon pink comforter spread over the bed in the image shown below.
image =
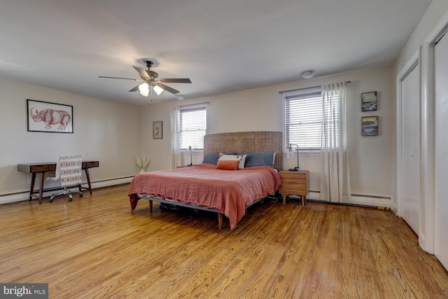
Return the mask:
[[245,207],[274,193],[280,185],[279,174],[269,166],[222,170],[204,163],[138,174],[128,195],[132,211],[139,201],[137,195],[216,209],[229,218],[233,230],[246,214]]

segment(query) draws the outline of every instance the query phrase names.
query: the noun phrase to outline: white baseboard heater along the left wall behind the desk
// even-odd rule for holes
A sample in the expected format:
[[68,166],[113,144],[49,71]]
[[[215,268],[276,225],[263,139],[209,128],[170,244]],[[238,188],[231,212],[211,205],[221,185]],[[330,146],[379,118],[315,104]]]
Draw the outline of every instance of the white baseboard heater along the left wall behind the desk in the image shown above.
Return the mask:
[[[115,185],[121,185],[123,183],[130,183],[130,181],[132,181],[132,178],[134,178],[134,176],[126,176],[123,178],[118,178],[118,179],[108,179],[108,180],[103,180],[103,181],[95,181],[90,183],[90,185],[92,186],[92,189],[97,189],[97,188],[104,188],[104,187],[109,187],[109,186],[115,186]],[[88,188],[87,183],[83,183],[81,186]],[[62,190],[59,188],[50,188],[50,189],[43,189],[43,197],[49,197],[52,195],[52,193],[54,193],[57,190]],[[83,190],[83,192],[85,192],[86,190]],[[88,190],[87,190],[88,192]],[[18,192],[18,193],[10,193],[10,194],[5,194],[5,195],[0,195],[0,204],[11,204],[14,202],[24,202],[29,200],[29,190],[27,191],[22,191],[22,192]]]

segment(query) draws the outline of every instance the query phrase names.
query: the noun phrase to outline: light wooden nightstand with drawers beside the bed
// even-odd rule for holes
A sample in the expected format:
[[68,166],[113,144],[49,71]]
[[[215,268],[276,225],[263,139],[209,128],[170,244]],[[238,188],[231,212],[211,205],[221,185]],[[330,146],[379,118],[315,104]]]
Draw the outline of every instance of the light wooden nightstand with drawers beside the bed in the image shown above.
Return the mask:
[[281,177],[280,193],[283,194],[283,204],[286,204],[286,197],[289,195],[300,195],[303,206],[309,192],[309,171],[297,170],[296,172],[290,172],[281,170],[279,174]]

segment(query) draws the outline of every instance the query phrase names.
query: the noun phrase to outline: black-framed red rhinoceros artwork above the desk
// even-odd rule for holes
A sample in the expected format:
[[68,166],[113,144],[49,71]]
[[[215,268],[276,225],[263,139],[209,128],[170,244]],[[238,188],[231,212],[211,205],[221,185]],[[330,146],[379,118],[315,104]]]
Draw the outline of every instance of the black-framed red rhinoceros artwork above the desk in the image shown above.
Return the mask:
[[73,106],[27,99],[29,132],[73,133]]

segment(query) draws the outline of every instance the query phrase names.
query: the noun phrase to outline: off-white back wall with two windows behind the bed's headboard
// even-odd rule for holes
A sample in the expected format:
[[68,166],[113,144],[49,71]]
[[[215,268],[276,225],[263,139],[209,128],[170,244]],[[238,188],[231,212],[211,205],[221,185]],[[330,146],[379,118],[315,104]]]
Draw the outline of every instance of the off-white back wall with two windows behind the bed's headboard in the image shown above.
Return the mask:
[[[279,85],[233,92],[213,97],[188,99],[151,104],[142,110],[143,154],[152,158],[149,170],[171,167],[171,133],[169,127],[170,107],[182,104],[209,102],[208,132],[281,131],[283,106],[279,91],[337,81],[349,83],[349,163],[351,190],[353,194],[391,197],[393,194],[393,138],[395,132],[394,97],[392,92],[392,69],[382,67],[353,71],[346,74],[312,78]],[[378,92],[378,111],[361,112],[361,92]],[[379,116],[379,136],[361,136],[361,117]],[[154,140],[152,122],[163,121],[163,139]],[[195,163],[202,161],[202,153],[196,153]],[[295,159],[284,159],[283,168],[295,166]],[[311,190],[319,190],[320,162],[316,153],[300,153],[300,168],[310,170]],[[186,158],[184,164],[190,161]]]

